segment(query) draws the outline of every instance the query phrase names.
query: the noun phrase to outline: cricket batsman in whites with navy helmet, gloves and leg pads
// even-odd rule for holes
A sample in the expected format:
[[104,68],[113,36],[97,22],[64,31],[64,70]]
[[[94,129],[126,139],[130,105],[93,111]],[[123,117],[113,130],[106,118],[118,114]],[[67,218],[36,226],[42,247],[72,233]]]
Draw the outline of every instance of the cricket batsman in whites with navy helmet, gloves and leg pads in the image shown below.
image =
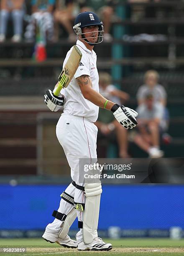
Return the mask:
[[[97,234],[101,182],[85,184],[81,181],[79,159],[97,159],[97,127],[94,122],[99,107],[112,111],[125,129],[136,126],[138,113],[105,99],[99,93],[97,55],[93,47],[103,41],[102,21],[93,12],[83,12],[75,19],[73,28],[78,36],[76,45],[82,52],[79,67],[60,95],[55,96],[51,90],[45,95],[50,110],[57,111],[64,105],[64,112],[56,125],[56,136],[71,168],[72,183],[62,192],[59,208],[52,214],[55,219],[46,226],[43,238],[80,251],[109,251],[112,244],[105,243]],[[63,66],[71,51],[72,48],[66,54]],[[77,241],[74,241],[67,234],[76,217],[80,230]]]

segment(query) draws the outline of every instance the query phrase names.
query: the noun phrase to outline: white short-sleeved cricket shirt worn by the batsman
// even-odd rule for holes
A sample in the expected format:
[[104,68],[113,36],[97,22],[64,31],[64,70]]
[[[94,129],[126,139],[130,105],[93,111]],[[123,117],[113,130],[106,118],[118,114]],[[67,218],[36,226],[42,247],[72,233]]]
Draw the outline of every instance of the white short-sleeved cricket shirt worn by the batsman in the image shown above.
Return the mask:
[[[77,40],[76,44],[82,52],[82,59],[68,87],[61,90],[61,94],[65,95],[66,101],[64,104],[64,113],[62,115],[82,116],[91,122],[95,122],[98,118],[99,107],[84,98],[76,78],[84,74],[88,75],[91,77],[93,90],[99,92],[97,55],[95,54],[95,51],[88,50],[81,41]],[[63,67],[66,64],[71,51],[72,48],[66,54]]]

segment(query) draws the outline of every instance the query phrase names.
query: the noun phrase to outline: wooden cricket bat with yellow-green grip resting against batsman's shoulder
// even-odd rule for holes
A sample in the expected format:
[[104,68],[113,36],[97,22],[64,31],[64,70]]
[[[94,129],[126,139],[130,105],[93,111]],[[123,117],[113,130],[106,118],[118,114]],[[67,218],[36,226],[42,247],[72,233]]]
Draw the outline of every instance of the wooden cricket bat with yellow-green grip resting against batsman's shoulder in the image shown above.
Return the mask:
[[69,82],[72,80],[77,68],[79,67],[79,63],[82,58],[82,53],[79,48],[74,45],[72,52],[69,56],[69,59],[66,61],[66,64],[59,75],[59,84],[56,87],[54,95],[58,96],[61,89],[66,88],[69,85]]

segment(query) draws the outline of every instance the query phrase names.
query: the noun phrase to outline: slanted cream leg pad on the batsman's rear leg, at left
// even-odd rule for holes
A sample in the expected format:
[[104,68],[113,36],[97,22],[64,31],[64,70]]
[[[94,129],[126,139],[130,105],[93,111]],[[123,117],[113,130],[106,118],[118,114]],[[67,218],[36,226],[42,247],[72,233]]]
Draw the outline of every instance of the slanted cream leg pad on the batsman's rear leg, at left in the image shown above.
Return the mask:
[[61,230],[59,231],[59,238],[64,239],[69,232],[69,228],[77,217],[77,211],[73,208],[67,215],[66,219],[61,224]]

